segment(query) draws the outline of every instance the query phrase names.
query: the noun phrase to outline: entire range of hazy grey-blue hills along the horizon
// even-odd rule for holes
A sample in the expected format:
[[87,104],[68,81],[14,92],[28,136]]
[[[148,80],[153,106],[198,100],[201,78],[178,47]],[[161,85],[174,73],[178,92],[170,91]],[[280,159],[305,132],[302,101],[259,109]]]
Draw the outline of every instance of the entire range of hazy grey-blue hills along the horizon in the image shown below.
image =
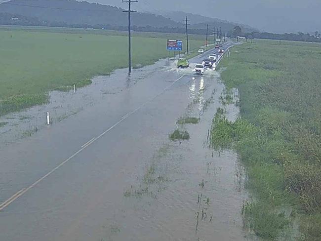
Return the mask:
[[[120,7],[76,0],[10,0],[0,4],[0,24],[126,30],[127,16],[123,10]],[[184,12],[167,12],[163,16],[136,12],[132,14],[133,30],[184,33],[182,20],[185,15]],[[221,26],[223,32],[232,31],[237,25],[201,15],[187,15],[191,19],[190,33],[204,34],[205,23],[211,29]],[[246,32],[257,31],[240,26]]]

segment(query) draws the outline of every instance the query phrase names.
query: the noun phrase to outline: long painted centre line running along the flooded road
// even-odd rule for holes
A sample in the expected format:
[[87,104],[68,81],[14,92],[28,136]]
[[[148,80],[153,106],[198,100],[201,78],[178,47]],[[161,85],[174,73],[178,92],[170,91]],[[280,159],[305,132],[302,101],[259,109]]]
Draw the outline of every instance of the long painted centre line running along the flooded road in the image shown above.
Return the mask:
[[47,174],[45,174],[43,177],[41,177],[40,179],[38,179],[36,182],[34,182],[33,184],[31,184],[29,187],[27,188],[23,188],[21,189],[19,192],[15,193],[14,195],[12,195],[8,200],[2,202],[0,204],[0,211],[7,207],[8,205],[10,205],[13,201],[17,200],[19,197],[21,197],[22,195],[24,195],[26,192],[28,192],[28,190],[32,189],[33,187],[35,187],[38,183],[40,183],[43,179],[45,179],[47,176],[49,176],[50,174],[52,174],[54,171],[56,171],[58,168],[60,168],[61,166],[63,166],[64,164],[66,164],[68,161],[70,161],[71,159],[73,159],[76,155],[78,155],[81,151],[83,151],[86,147],[90,146],[92,143],[94,143],[96,140],[98,140],[100,137],[102,137],[103,135],[105,135],[107,132],[109,132],[110,130],[112,130],[113,128],[115,128],[115,126],[117,126],[120,122],[124,121],[125,119],[127,119],[129,116],[131,116],[132,114],[134,114],[135,112],[139,111],[141,108],[143,108],[147,103],[155,100],[158,96],[160,96],[163,92],[165,92],[167,89],[169,89],[171,86],[174,85],[174,83],[176,83],[178,80],[182,79],[185,75],[182,75],[180,78],[178,78],[177,80],[175,80],[174,82],[172,82],[170,85],[168,85],[167,87],[165,87],[160,93],[158,93],[156,96],[154,96],[151,100],[146,101],[144,104],[142,104],[141,106],[139,106],[138,108],[136,108],[135,110],[127,113],[124,117],[122,117],[120,119],[120,121],[117,121],[115,124],[113,124],[111,127],[109,127],[107,130],[105,130],[103,133],[101,133],[99,136],[94,137],[93,139],[91,139],[90,141],[88,141],[87,143],[85,143],[84,145],[82,145],[82,147],[80,148],[80,150],[78,150],[77,152],[75,152],[72,156],[70,156],[69,158],[67,158],[65,161],[61,162],[59,165],[57,165],[55,168],[53,168],[51,171],[49,171]]

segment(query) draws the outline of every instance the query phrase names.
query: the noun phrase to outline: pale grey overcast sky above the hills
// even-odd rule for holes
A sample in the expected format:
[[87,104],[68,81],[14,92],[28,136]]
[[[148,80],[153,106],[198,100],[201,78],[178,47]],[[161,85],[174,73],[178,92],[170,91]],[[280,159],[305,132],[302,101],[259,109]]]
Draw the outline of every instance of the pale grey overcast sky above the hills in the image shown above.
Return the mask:
[[[87,0],[120,6],[121,0]],[[321,31],[321,0],[138,0],[140,11],[185,11],[269,32]]]

